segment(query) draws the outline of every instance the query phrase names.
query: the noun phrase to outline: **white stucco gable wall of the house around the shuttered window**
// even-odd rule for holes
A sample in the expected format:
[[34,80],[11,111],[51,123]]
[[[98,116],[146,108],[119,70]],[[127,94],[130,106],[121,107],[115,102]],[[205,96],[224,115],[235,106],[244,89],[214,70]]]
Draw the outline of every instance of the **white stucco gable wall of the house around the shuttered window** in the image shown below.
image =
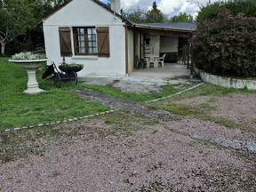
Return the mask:
[[[109,27],[110,57],[68,57],[68,62],[84,64],[78,76],[125,76],[125,28],[123,21],[92,0],[73,0],[44,20],[46,55],[60,64],[59,27]],[[71,32],[72,33],[72,32]],[[71,34],[73,41],[73,34]],[[51,62],[49,61],[49,62]]]

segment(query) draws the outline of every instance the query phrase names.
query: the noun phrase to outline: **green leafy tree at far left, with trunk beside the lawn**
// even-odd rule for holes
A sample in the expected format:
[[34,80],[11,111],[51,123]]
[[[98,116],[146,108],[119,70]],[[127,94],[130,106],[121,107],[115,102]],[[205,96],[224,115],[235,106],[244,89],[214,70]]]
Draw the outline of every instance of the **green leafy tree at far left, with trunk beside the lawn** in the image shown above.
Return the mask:
[[35,14],[29,0],[0,1],[1,54],[4,55],[6,44],[35,26]]

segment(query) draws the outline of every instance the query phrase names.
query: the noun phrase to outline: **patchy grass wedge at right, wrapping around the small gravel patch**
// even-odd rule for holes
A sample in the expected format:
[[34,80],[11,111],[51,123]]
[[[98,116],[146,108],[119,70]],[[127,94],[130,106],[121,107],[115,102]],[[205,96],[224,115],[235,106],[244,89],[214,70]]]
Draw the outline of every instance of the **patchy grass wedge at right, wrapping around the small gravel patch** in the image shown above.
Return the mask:
[[[205,121],[212,121],[217,124],[223,124],[228,127],[241,128],[244,131],[255,132],[254,129],[248,127],[246,124],[236,124],[234,121],[222,117],[211,116],[211,111],[215,110],[214,97],[227,96],[231,93],[256,93],[255,91],[228,89],[212,84],[204,84],[191,92],[183,93],[177,97],[168,100],[162,100],[155,103],[148,104],[152,108],[164,108],[172,113],[180,116],[193,116],[203,119]],[[184,104],[182,100],[189,100],[200,96],[207,96],[208,101],[203,103]],[[180,101],[180,102],[177,102]]]

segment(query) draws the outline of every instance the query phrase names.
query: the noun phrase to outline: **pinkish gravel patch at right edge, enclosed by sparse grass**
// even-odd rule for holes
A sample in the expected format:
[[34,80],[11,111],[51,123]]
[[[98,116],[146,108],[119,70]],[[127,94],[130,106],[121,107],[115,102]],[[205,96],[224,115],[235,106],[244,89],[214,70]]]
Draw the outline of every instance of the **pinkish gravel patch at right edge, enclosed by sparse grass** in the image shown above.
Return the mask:
[[190,106],[210,104],[214,108],[209,112],[210,116],[228,119],[236,124],[244,124],[256,132],[256,94],[229,93],[227,96],[219,97],[197,96],[177,100],[175,103]]

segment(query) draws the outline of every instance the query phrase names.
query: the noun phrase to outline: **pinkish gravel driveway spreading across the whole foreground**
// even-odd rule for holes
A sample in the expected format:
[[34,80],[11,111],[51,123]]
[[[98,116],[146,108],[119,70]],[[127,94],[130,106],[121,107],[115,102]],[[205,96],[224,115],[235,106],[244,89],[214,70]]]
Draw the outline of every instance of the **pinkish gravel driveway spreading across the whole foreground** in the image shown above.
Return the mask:
[[[124,120],[106,124],[116,116],[123,116]],[[145,123],[149,121],[147,118],[125,114],[100,118],[52,127],[52,132],[59,134],[51,137],[29,136],[26,142],[30,147],[44,147],[44,154],[32,155],[28,148],[23,148],[27,149],[28,157],[2,164],[0,190],[256,190],[254,154],[216,147],[187,134],[194,126],[195,131],[204,131],[210,123],[192,118],[149,125]],[[139,125],[140,129],[132,135],[120,131],[134,130]],[[179,133],[170,127],[183,131]],[[216,132],[220,130],[218,127]],[[32,132],[38,135],[39,131]],[[109,134],[102,134],[106,132]],[[221,132],[224,134],[226,130]],[[235,133],[238,137],[241,132]],[[235,133],[228,135],[233,138]]]

